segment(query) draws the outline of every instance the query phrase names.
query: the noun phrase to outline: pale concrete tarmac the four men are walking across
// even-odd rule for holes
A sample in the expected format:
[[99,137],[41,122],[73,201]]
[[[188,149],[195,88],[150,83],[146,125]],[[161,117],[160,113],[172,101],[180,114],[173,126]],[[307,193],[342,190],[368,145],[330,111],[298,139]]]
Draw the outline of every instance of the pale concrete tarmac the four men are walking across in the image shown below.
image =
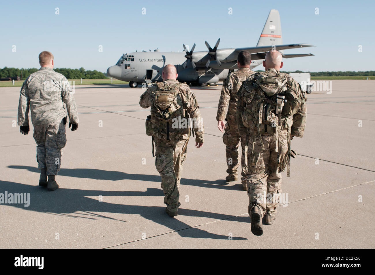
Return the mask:
[[225,183],[221,85],[192,87],[205,143],[189,141],[174,218],[145,134],[142,88],[75,88],[80,123],[67,128],[53,192],[38,186],[32,125],[26,136],[15,126],[20,87],[0,88],[0,193],[30,194],[29,206],[0,204],[0,248],[375,248],[374,81],[332,88],[308,95],[305,136],[291,146],[299,155],[291,177],[283,173],[284,205],[263,236],[250,231],[240,181]]

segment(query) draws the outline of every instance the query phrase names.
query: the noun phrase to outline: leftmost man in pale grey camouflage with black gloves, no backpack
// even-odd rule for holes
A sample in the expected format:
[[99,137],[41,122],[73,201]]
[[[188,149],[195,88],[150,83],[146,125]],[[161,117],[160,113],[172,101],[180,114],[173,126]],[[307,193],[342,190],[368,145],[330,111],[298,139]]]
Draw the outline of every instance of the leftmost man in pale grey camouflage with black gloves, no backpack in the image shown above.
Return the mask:
[[[54,57],[48,51],[39,54],[39,71],[29,75],[23,83],[18,105],[18,125],[20,132],[27,135],[28,111],[34,126],[36,160],[40,170],[39,186],[48,191],[58,188],[55,180],[60,171],[62,149],[66,144],[66,110],[69,115],[69,128],[78,128],[78,113],[72,89],[68,80],[53,71]],[[66,104],[66,110],[64,104]],[[48,176],[48,180],[47,180]]]

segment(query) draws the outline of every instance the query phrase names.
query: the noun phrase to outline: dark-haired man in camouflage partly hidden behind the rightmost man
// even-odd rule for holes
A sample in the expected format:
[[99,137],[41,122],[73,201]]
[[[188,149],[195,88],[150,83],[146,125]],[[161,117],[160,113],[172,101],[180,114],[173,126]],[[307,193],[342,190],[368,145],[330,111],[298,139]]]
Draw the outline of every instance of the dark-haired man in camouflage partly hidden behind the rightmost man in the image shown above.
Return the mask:
[[[231,72],[228,77],[223,81],[221,96],[219,100],[219,107],[217,108],[217,128],[221,132],[225,131],[223,135],[223,142],[226,145],[226,164],[228,165],[228,176],[226,182],[237,181],[237,170],[239,164],[239,146],[241,143],[241,181],[243,190],[248,190],[246,184],[247,173],[247,144],[245,127],[239,127],[237,123],[237,92],[240,89],[242,82],[245,81],[250,75],[255,74],[250,69],[251,54],[248,51],[240,51],[237,56],[238,70]],[[228,107],[229,105],[229,107]],[[225,111],[228,107],[228,113],[225,117]],[[226,125],[224,122],[226,120]]]

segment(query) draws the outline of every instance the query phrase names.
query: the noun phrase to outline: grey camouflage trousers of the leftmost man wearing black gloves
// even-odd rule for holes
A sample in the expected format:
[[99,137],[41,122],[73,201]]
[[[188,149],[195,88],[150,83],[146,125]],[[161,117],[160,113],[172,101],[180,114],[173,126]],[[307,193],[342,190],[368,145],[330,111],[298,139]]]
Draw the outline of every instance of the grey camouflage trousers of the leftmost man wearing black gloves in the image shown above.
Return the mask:
[[47,175],[60,171],[62,149],[66,144],[65,124],[49,123],[34,125],[34,140],[38,169],[46,169]]

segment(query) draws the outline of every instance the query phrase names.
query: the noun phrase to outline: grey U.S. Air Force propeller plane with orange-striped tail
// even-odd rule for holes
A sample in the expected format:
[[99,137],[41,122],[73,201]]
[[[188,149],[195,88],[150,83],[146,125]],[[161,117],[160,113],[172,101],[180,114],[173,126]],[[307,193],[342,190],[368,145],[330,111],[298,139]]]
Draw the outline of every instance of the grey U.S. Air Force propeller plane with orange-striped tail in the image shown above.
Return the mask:
[[230,71],[237,69],[237,55],[246,50],[251,53],[250,68],[262,63],[267,51],[279,50],[284,58],[313,56],[314,54],[284,54],[283,50],[312,47],[309,44],[282,45],[281,23],[279,12],[271,10],[257,47],[218,49],[220,38],[213,48],[205,41],[208,51],[195,52],[195,44],[189,50],[185,45],[183,52],[142,51],[123,54],[116,65],[107,69],[107,75],[118,80],[129,81],[130,87],[141,83],[162,81],[162,69],[166,64],[177,68],[180,82],[201,86],[205,83],[215,84],[224,80]]

